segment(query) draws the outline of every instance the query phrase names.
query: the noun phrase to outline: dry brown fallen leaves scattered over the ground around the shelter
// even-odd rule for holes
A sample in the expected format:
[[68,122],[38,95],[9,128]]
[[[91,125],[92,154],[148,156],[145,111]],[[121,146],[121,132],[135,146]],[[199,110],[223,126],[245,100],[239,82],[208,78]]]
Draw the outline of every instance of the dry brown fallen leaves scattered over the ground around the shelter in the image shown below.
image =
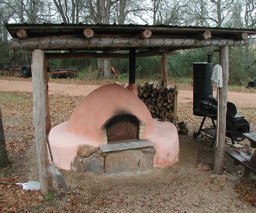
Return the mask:
[[[71,82],[73,80],[69,79],[67,81],[66,79],[58,79],[57,82],[60,82],[60,81],[63,83],[68,83],[69,81]],[[101,82],[103,82],[103,84],[107,83],[107,81],[101,81]],[[83,81],[77,80],[76,84],[84,84],[84,83]],[[99,81],[95,81],[95,83],[90,82],[90,84],[98,85]],[[74,97],[74,96],[50,95],[49,98],[50,98],[51,124],[53,127],[58,125],[61,122],[69,120],[73,112],[73,109],[79,104],[80,100],[83,97],[82,96]],[[1,92],[0,104],[3,111],[2,113],[3,113],[3,122],[4,122],[7,148],[9,150],[9,154],[11,155],[12,159],[17,161],[17,159],[19,160],[19,157],[21,157],[24,152],[28,152],[30,146],[34,142],[33,119],[32,119],[32,111],[33,111],[32,93]],[[256,126],[255,109],[241,108],[240,113],[242,115],[246,115],[246,119],[248,119],[248,121],[251,122],[252,129],[253,128],[255,129],[255,126]],[[186,142],[183,142],[183,145],[184,144],[187,145],[188,143],[191,143],[191,140],[194,140],[191,134],[198,130],[202,118],[199,116],[193,115],[192,101],[188,104],[183,104],[178,106],[178,116],[180,121],[186,122],[187,127],[190,130],[190,135],[187,135],[186,137],[184,136],[182,138],[186,141]],[[206,126],[207,125],[211,125],[210,120],[207,121]],[[201,136],[197,140],[197,142],[200,142],[200,146],[203,146],[204,143],[206,144],[207,147],[210,146],[210,139],[204,136]],[[248,143],[248,142],[245,141],[245,143]],[[182,157],[180,156],[180,158]],[[183,165],[180,165],[178,169],[180,169],[180,167],[183,167]],[[27,168],[23,169],[23,173],[28,173],[26,169]],[[204,158],[204,162],[201,164],[197,164],[197,166],[194,166],[193,169],[197,173],[200,173],[200,176],[201,176],[203,173],[199,171],[210,171],[212,169],[212,166],[210,164],[207,164],[206,158]],[[26,182],[27,180],[24,181],[24,178],[22,177],[23,174],[21,174],[21,171],[22,169],[19,169],[19,173],[18,172],[15,173],[15,175],[17,176],[12,176],[8,174],[8,172],[4,173],[3,171],[1,171],[1,174],[6,174],[6,176],[5,177],[0,176],[0,181]],[[33,171],[33,172],[35,174],[37,173],[37,171]],[[190,174],[189,172],[190,171],[187,171],[187,174]],[[199,177],[196,177],[196,178],[199,178]],[[190,177],[186,178],[185,176],[177,177],[175,175],[172,175],[169,180],[171,180],[170,183],[163,184],[164,189],[170,190],[175,185],[177,188],[177,191],[179,189],[183,189],[181,190],[181,193],[184,193],[187,190],[187,188],[190,188],[191,185],[193,184],[195,184],[194,187],[196,188],[196,182],[193,180],[193,178],[192,180],[190,180]],[[92,182],[94,181],[95,181],[95,178],[92,179]],[[155,182],[157,182],[157,180],[154,180],[152,185],[154,185]],[[211,185],[211,187],[213,188],[217,187],[218,185],[217,183],[215,182],[212,183],[211,181],[210,182],[208,181],[207,184]],[[120,185],[122,184],[120,183]],[[142,201],[137,201],[137,200],[134,201],[134,206],[135,206],[134,210],[138,210],[138,205],[142,205],[142,208],[146,208],[146,206],[148,205],[149,207],[148,209],[153,209],[153,210],[159,207],[157,202],[154,202],[154,200],[158,199],[158,197],[161,197],[162,194],[166,193],[166,191],[162,190],[161,191],[162,194],[159,193],[159,194],[156,194],[156,196],[154,196],[153,194],[154,191],[157,191],[158,188],[161,186],[158,185],[157,188],[154,188],[152,185],[147,184],[147,186],[149,187],[147,191],[151,193],[150,196],[145,196],[145,197],[142,196],[143,197],[141,198]],[[64,211],[64,212],[79,211],[81,208],[81,205],[83,207],[82,210],[90,211],[95,209],[105,210],[106,208],[112,208],[112,206],[115,206],[114,204],[115,202],[116,203],[124,202],[125,204],[123,204],[123,206],[127,205],[127,209],[130,208],[131,204],[133,205],[132,201],[129,199],[127,200],[126,196],[123,195],[122,190],[123,188],[125,188],[124,185],[122,185],[123,187],[122,189],[112,190],[109,195],[107,195],[107,191],[109,190],[108,187],[105,188],[105,191],[100,190],[100,193],[96,193],[97,191],[96,192],[94,191],[96,187],[94,187],[90,191],[90,193],[88,192],[86,194],[87,187],[88,186],[86,184],[86,187],[84,189],[81,189],[80,191],[71,191],[70,194],[64,194],[64,193],[61,194],[58,191],[56,193],[56,196],[52,200],[46,201],[41,196],[39,191],[24,191],[21,189],[21,187],[17,185],[0,185],[0,206],[1,206],[0,211],[1,212],[29,211],[29,210],[30,211],[33,211],[33,210],[50,211],[50,212],[56,212],[58,210]],[[135,186],[133,187],[134,189],[137,190],[136,193],[139,192],[140,188],[138,187],[138,185],[136,185],[136,187]],[[218,186],[219,191],[222,188],[223,187],[221,185]],[[255,205],[255,188],[256,188],[255,180],[254,182],[250,182],[250,183],[241,182],[237,187],[237,191],[239,194],[241,194],[241,197],[243,199]],[[127,193],[129,194],[129,197],[132,196],[132,198],[135,199],[134,197],[136,197],[136,193],[132,194],[132,191],[131,190],[129,191],[129,190],[130,190],[130,187],[126,188],[124,191],[127,191]],[[144,190],[144,189],[141,189],[141,190]],[[104,196],[104,193],[101,193],[101,191],[104,191],[105,196]],[[203,192],[201,191],[201,193]],[[217,192],[214,191],[214,193],[217,193]],[[144,194],[145,194],[145,191],[144,191]],[[165,202],[170,201],[172,197],[173,196],[167,197]],[[153,200],[146,203],[145,201],[147,201],[146,200],[147,198],[149,199],[152,198]],[[142,202],[143,204],[141,204]]]

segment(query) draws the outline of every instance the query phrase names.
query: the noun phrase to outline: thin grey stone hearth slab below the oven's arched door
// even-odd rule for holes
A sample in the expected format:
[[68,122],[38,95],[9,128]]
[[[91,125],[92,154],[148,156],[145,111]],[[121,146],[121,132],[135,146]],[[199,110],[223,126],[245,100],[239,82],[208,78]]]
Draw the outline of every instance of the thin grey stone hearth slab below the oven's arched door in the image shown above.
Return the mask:
[[99,148],[103,153],[121,151],[127,149],[137,149],[145,147],[153,147],[153,143],[147,140],[129,141],[122,143],[105,143],[100,145]]

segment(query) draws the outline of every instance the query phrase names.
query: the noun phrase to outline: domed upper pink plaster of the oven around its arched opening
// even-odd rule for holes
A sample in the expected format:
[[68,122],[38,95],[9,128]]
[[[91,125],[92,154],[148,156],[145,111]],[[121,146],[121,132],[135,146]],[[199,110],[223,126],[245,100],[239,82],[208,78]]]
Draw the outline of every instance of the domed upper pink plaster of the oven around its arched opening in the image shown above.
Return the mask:
[[77,105],[67,130],[82,138],[101,142],[100,128],[117,114],[132,114],[145,122],[145,139],[153,132],[154,122],[145,104],[134,93],[117,84],[104,85]]

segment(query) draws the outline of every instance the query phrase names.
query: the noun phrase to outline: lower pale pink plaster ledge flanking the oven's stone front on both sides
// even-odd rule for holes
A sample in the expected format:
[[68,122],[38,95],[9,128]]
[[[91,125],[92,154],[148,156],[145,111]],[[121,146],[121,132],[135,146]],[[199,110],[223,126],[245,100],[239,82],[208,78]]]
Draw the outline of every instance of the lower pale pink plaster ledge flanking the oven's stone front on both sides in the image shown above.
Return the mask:
[[[159,122],[153,120],[156,125],[153,133],[147,140],[154,143],[156,154],[154,156],[155,167],[169,166],[178,161],[179,139],[176,127],[170,122]],[[49,142],[52,150],[55,165],[60,169],[71,169],[71,162],[77,155],[79,145],[90,145],[98,147],[102,142],[93,141],[87,138],[68,132],[68,122],[63,122],[53,127],[49,134]]]

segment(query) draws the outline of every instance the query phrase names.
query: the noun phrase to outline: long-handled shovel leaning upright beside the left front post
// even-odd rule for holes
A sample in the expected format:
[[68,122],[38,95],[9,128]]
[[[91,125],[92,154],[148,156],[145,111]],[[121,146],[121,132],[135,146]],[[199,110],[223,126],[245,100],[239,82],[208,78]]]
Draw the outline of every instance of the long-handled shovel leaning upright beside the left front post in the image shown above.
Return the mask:
[[48,136],[46,136],[46,141],[47,141],[47,145],[48,145],[50,156],[51,156],[52,164],[50,166],[50,171],[51,171],[52,177],[60,187],[62,187],[66,191],[69,191],[69,187],[66,185],[63,175],[53,164],[53,157],[52,157],[52,153],[51,153],[51,147],[50,147]]

